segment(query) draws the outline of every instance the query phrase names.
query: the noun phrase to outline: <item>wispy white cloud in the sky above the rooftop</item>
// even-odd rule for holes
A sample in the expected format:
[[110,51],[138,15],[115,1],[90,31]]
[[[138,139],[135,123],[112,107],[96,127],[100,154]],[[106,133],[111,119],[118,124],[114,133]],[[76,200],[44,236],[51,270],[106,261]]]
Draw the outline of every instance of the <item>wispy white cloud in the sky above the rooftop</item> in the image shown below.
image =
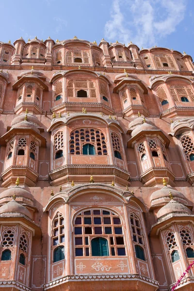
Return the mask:
[[109,41],[151,47],[175,32],[183,20],[185,0],[113,0],[111,19],[105,24]]

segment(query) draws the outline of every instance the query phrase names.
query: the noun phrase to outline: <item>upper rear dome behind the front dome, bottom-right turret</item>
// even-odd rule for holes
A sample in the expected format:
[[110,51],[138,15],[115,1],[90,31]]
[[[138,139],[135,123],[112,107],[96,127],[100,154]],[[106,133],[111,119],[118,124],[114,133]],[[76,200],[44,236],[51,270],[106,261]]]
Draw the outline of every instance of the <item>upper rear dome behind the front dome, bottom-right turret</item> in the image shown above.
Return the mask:
[[151,194],[151,206],[158,206],[165,202],[170,202],[169,191],[174,199],[180,203],[188,204],[185,196],[177,190],[164,186],[162,189],[157,190]]

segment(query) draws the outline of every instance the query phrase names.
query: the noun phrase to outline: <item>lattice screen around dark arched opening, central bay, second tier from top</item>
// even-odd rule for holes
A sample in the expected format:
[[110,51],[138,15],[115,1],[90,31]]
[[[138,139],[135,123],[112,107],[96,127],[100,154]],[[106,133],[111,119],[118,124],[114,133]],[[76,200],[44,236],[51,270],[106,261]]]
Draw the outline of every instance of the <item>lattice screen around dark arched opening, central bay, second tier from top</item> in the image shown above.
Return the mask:
[[88,92],[89,98],[96,98],[95,83],[90,80],[78,79],[68,81],[68,97],[77,97],[77,92],[85,90]]

